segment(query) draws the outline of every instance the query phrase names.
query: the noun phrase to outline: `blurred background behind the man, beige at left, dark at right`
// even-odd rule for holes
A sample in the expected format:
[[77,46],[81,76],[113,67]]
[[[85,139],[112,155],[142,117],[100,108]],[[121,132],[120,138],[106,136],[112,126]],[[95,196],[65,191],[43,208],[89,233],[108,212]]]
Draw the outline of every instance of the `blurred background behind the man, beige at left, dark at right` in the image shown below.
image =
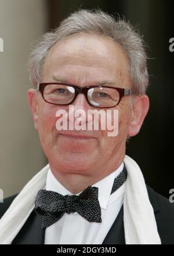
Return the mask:
[[148,44],[150,111],[140,133],[126,146],[146,183],[169,197],[174,188],[174,37],[173,2],[164,0],[0,0],[0,189],[4,197],[20,192],[47,163],[27,104],[31,87],[27,59],[37,39],[78,8],[100,8],[124,15]]

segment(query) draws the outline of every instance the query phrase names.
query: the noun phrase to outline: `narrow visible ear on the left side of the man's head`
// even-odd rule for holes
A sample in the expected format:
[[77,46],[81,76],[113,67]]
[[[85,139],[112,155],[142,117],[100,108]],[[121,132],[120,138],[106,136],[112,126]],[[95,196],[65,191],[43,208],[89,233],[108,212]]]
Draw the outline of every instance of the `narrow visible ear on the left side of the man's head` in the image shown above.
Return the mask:
[[28,104],[30,106],[32,118],[34,120],[34,127],[38,129],[38,101],[37,101],[37,91],[35,89],[29,89],[28,93]]

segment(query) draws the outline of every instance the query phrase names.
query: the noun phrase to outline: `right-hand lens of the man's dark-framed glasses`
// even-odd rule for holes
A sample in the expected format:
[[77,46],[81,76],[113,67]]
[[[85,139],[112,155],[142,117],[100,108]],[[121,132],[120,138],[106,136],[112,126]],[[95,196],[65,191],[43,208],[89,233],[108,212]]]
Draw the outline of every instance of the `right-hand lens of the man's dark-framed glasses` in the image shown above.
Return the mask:
[[91,88],[88,100],[94,107],[113,107],[119,102],[119,92],[107,87]]

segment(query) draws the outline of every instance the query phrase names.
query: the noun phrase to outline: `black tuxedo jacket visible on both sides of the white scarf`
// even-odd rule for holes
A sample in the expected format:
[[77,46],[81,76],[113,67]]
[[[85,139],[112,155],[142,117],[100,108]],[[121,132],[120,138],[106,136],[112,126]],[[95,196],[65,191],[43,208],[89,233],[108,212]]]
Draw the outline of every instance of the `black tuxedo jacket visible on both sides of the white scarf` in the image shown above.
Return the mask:
[[[147,192],[154,209],[161,243],[174,244],[174,203],[169,203],[168,199],[148,186]],[[3,203],[0,203],[0,218],[16,196],[17,194],[7,197]],[[102,244],[125,244],[123,212],[124,207],[122,206]],[[12,244],[44,244],[45,230],[41,229],[41,223],[41,215],[32,211],[20,232],[14,237]]]

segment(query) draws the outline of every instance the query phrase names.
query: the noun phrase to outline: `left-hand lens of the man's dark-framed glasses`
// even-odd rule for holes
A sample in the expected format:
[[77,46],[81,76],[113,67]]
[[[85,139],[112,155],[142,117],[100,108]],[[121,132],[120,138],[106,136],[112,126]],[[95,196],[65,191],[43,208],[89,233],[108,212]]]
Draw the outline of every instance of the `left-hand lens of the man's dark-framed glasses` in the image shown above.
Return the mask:
[[74,95],[75,89],[68,85],[49,84],[44,89],[44,99],[53,104],[68,104]]

